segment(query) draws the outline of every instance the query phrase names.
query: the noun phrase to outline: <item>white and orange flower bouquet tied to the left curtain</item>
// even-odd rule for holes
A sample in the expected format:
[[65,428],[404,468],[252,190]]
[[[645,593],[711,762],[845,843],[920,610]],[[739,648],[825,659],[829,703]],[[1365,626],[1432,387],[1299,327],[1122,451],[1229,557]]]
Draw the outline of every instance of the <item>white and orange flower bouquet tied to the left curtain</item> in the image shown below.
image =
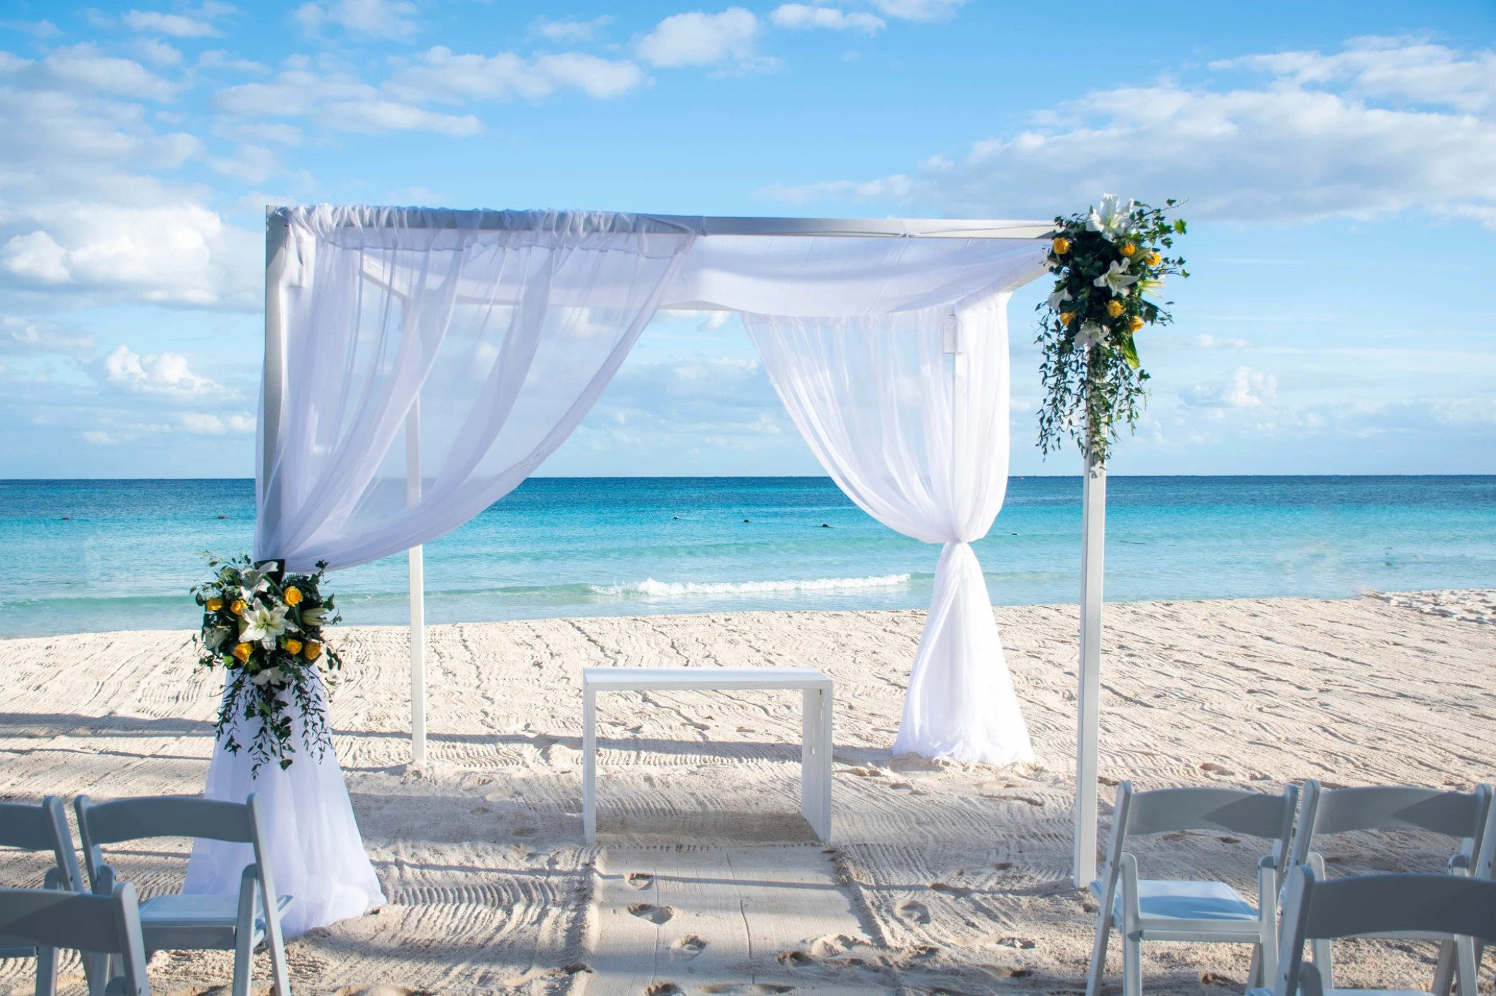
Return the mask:
[[316,694],[317,682],[331,683],[322,668],[337,670],[343,660],[328,646],[323,627],[341,622],[332,595],[322,594],[326,562],[317,564],[316,574],[286,574],[280,561],[250,561],[248,556],[220,558],[205,553],[212,580],[193,588],[202,606],[202,634],[197,643],[197,664],[205,668],[223,667],[229,680],[214,733],[227,736],[224,749],[238,754],[235,721],[259,721],[254,740],[248,745],[254,778],[260,764],[277,763],[290,767],[292,706],[302,719],[302,746],[317,757],[331,746],[328,713]]

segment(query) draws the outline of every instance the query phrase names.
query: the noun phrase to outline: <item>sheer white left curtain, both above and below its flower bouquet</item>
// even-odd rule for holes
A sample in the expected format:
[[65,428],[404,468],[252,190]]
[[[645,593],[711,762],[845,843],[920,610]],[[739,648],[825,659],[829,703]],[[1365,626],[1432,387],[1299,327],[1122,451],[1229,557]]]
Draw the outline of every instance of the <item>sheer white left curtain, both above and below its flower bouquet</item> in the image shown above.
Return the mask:
[[[509,494],[597,401],[694,241],[619,214],[280,217],[254,556],[289,570],[398,553]],[[277,885],[296,896],[287,935],[384,902],[331,751],[251,778],[242,752],[215,745],[206,796],[250,791]],[[187,888],[236,893],[245,863],[242,848],[197,840]]]

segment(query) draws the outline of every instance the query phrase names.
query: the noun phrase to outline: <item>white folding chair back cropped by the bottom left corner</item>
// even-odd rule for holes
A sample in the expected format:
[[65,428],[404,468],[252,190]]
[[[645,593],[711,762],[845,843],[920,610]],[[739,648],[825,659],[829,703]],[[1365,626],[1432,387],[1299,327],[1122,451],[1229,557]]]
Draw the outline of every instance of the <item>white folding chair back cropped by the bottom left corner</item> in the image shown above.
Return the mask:
[[[121,975],[108,980],[97,972],[90,996],[151,996],[145,978],[145,945],[135,885],[120,882],[109,896],[91,896],[55,888],[0,888],[0,944],[27,944],[49,951],[72,948],[99,956],[118,956]],[[55,971],[36,975],[36,996],[57,996]]]

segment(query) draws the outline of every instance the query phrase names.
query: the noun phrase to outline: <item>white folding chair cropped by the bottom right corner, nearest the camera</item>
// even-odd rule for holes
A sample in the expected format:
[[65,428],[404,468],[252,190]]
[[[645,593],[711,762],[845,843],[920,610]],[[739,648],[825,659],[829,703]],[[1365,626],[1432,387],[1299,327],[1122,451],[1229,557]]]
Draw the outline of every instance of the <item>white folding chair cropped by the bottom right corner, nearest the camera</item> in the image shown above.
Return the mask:
[[[1424,990],[1331,989],[1303,957],[1305,942],[1334,938],[1496,938],[1496,882],[1456,875],[1357,875],[1318,879],[1300,864],[1284,890],[1278,977],[1246,996],[1427,996]],[[1471,947],[1457,944],[1459,996],[1475,996]]]

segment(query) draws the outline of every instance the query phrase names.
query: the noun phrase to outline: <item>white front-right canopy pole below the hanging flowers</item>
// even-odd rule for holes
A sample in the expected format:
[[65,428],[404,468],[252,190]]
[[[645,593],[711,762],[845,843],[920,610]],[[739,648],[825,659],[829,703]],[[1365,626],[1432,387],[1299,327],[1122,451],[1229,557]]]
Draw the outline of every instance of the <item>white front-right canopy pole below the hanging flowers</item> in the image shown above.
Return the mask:
[[1080,692],[1076,721],[1076,885],[1097,876],[1097,754],[1101,740],[1101,580],[1107,468],[1086,452],[1080,494]]

